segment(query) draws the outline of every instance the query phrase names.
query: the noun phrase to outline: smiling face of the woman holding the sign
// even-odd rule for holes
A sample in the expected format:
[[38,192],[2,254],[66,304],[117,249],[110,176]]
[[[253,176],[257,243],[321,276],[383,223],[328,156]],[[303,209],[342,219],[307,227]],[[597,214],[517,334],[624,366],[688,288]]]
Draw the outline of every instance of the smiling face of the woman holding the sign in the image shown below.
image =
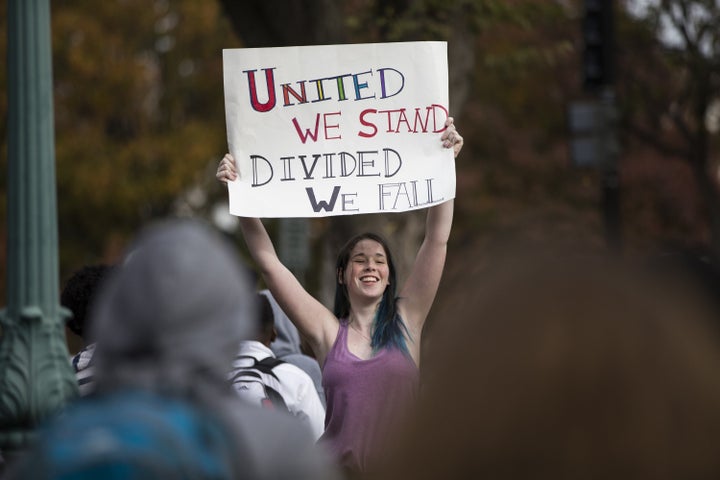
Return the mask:
[[380,298],[390,284],[390,268],[383,246],[371,239],[360,240],[350,252],[342,279],[348,293]]

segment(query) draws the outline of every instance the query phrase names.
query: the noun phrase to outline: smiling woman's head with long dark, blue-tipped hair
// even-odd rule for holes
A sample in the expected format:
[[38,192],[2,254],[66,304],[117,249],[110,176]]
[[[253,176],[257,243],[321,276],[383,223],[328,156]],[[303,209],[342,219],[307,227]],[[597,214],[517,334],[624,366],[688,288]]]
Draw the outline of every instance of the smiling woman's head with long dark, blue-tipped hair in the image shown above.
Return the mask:
[[377,298],[372,346],[379,349],[405,346],[405,326],[396,308],[397,280],[395,264],[387,242],[374,233],[351,238],[338,253],[335,264],[336,286],[334,313],[348,318],[351,298]]

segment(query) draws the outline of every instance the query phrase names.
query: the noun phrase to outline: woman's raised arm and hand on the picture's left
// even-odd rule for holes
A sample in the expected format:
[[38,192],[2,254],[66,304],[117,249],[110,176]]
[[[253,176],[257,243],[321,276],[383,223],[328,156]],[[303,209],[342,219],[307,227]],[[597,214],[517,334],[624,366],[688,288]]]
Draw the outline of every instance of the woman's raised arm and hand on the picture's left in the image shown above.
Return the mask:
[[[226,154],[220,162],[216,177],[223,183],[237,178],[235,161],[230,154]],[[245,243],[267,288],[288,318],[310,342],[318,360],[324,359],[337,333],[335,316],[310,295],[295,275],[283,265],[262,221],[259,218],[239,218]]]

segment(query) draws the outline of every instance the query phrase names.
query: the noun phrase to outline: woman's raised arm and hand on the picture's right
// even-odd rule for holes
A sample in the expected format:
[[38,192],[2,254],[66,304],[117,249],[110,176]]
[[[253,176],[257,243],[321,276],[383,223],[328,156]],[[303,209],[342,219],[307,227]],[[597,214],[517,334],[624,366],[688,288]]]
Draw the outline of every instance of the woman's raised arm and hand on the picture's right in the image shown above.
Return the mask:
[[[463,146],[463,138],[455,129],[452,117],[448,118],[446,125],[448,128],[443,132],[441,141],[445,148],[452,147],[457,157]],[[416,340],[420,338],[425,319],[440,286],[452,227],[453,208],[454,201],[448,200],[428,209],[425,238],[400,292],[398,308]]]

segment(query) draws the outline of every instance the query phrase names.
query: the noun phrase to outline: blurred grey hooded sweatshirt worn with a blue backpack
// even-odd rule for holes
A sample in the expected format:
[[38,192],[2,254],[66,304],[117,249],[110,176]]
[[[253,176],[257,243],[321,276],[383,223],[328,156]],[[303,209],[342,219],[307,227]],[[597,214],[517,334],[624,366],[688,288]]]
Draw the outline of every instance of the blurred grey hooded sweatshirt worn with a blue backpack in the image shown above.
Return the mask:
[[233,478],[337,478],[304,425],[245,405],[227,382],[239,342],[255,333],[255,302],[248,270],[209,226],[151,226],[95,303],[96,392],[145,390],[209,409],[237,448]]

